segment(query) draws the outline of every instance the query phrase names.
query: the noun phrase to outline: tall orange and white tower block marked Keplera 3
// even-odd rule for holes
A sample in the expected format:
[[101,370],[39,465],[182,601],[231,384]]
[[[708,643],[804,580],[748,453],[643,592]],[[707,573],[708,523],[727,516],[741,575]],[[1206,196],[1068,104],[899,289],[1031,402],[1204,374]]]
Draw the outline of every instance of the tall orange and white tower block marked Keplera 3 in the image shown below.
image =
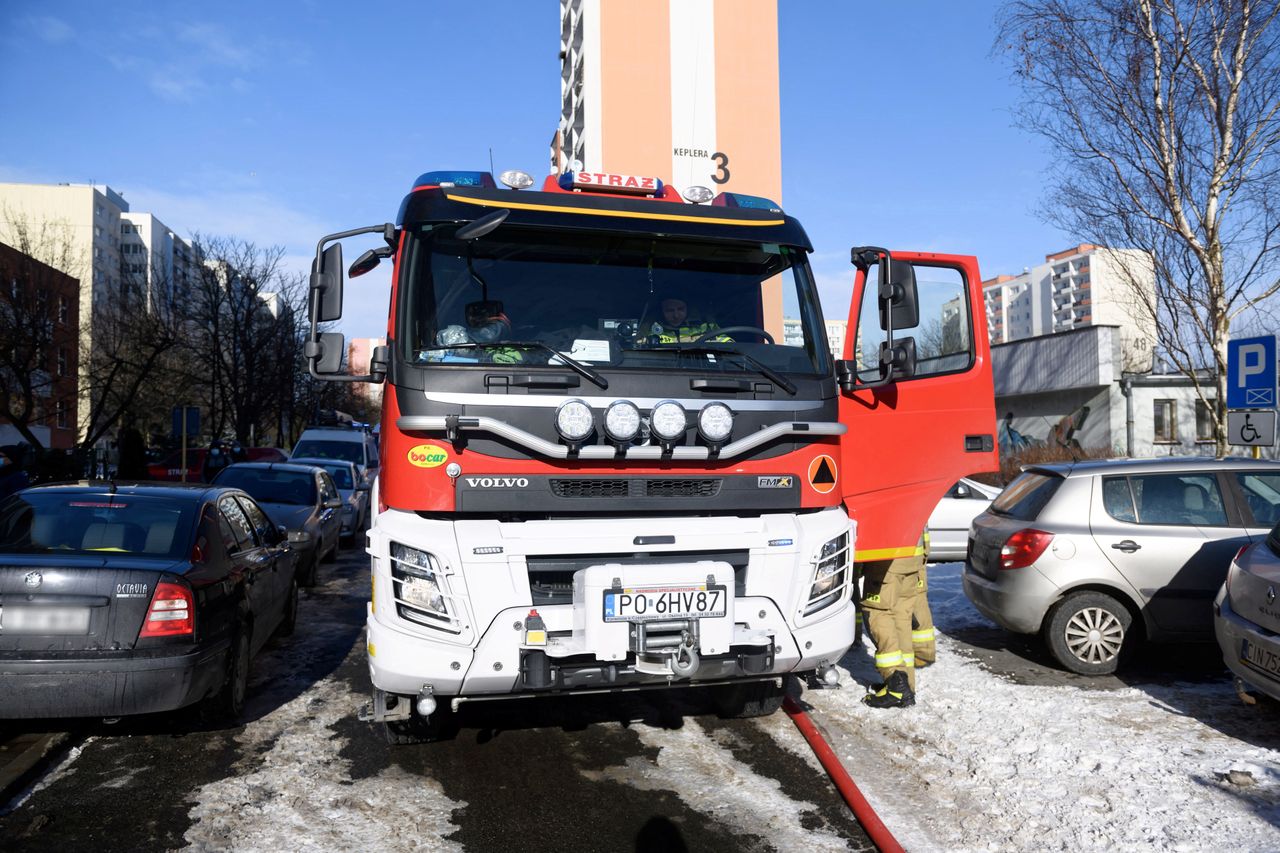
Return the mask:
[[777,0],[561,0],[561,96],[552,172],[782,202]]

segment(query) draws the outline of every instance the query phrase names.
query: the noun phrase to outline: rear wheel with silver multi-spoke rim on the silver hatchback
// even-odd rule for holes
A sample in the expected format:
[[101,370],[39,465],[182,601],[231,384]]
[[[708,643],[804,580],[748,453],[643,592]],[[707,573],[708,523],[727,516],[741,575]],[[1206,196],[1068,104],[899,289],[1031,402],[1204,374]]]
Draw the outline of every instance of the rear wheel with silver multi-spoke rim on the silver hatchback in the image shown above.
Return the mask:
[[1059,602],[1044,625],[1044,639],[1057,662],[1080,675],[1115,672],[1128,652],[1133,615],[1098,592],[1079,592]]

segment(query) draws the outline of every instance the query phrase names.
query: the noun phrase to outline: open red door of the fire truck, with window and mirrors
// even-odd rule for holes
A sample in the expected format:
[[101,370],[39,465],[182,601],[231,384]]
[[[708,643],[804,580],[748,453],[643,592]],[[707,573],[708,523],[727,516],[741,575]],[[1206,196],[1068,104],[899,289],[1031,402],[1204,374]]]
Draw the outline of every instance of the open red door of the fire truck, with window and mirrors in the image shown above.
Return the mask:
[[859,247],[852,263],[838,484],[865,562],[915,553],[946,491],[998,460],[977,259]]

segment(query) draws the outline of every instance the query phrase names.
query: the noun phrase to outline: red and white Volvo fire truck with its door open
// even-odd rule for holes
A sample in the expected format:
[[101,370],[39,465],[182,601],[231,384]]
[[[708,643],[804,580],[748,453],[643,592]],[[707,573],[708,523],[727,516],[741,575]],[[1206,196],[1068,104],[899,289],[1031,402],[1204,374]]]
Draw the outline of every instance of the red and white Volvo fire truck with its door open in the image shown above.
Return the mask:
[[[777,204],[502,182],[429,172],[394,224],[316,247],[310,371],[387,383],[365,717],[404,742],[474,699],[704,686],[758,715],[788,676],[837,681],[855,561],[913,553],[996,466],[975,260],[855,247],[833,359]],[[387,346],[351,377],[319,324],[361,234],[349,275],[394,268]]]

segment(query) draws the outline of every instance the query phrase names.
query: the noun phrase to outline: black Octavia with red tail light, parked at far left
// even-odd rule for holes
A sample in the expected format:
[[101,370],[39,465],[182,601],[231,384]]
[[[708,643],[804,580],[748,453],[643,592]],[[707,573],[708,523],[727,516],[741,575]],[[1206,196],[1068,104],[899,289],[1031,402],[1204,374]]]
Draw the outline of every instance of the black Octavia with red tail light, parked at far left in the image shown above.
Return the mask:
[[79,483],[0,502],[0,719],[205,702],[297,617],[297,552],[239,489]]

